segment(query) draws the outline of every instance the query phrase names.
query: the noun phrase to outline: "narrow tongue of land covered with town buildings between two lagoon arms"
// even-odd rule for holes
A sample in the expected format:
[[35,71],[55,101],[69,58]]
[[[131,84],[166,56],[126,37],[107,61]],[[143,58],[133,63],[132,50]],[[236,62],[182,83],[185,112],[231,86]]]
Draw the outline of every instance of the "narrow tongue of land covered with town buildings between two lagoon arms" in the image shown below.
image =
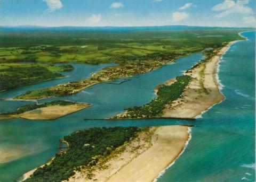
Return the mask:
[[91,77],[76,82],[69,82],[53,86],[52,88],[46,88],[41,90],[27,91],[14,99],[41,99],[47,97],[60,97],[75,94],[89,86],[94,84],[109,82],[119,79],[120,77],[134,76],[142,73],[147,73],[161,67],[163,64],[167,64],[170,60],[174,60],[181,55],[177,54],[152,54],[141,59],[126,60],[118,66],[111,66],[103,68],[100,72],[94,73]]

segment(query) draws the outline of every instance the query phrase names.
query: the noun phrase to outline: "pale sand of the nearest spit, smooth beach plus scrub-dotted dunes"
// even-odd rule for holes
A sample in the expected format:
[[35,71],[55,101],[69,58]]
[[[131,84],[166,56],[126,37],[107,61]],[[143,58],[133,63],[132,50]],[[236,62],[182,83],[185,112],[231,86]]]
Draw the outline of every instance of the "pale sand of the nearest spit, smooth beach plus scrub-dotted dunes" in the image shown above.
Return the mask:
[[189,127],[176,125],[150,129],[153,132],[149,135],[150,140],[140,135],[139,140],[132,141],[123,150],[119,149],[121,153],[111,154],[111,159],[101,168],[76,172],[69,181],[154,181],[185,149]]

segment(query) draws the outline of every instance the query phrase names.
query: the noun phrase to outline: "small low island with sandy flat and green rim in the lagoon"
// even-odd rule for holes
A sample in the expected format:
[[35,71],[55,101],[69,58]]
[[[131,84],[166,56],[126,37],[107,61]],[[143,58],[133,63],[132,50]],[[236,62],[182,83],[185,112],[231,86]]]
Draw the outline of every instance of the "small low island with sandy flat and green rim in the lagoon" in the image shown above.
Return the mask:
[[12,118],[53,120],[90,106],[89,103],[78,103],[65,100],[55,100],[42,104],[31,103],[19,107],[15,111],[1,113],[0,120]]

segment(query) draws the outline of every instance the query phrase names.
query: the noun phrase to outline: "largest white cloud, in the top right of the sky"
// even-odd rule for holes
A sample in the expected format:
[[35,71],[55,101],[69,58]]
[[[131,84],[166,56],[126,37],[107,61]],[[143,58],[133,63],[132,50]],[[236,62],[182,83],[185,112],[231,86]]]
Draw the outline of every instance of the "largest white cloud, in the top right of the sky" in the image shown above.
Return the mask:
[[217,18],[222,18],[232,13],[251,14],[252,8],[246,6],[249,1],[250,0],[241,0],[235,3],[232,0],[225,0],[222,3],[213,6],[212,11],[222,11],[221,13],[216,15]]

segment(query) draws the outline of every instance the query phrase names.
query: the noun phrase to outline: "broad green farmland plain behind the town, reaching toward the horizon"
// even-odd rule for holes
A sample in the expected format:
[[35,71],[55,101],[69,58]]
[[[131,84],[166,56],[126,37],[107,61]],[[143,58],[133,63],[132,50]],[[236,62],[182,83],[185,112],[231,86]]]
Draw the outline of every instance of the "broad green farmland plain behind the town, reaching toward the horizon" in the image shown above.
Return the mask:
[[184,53],[242,39],[240,29],[0,33],[0,63],[113,63],[153,53]]

